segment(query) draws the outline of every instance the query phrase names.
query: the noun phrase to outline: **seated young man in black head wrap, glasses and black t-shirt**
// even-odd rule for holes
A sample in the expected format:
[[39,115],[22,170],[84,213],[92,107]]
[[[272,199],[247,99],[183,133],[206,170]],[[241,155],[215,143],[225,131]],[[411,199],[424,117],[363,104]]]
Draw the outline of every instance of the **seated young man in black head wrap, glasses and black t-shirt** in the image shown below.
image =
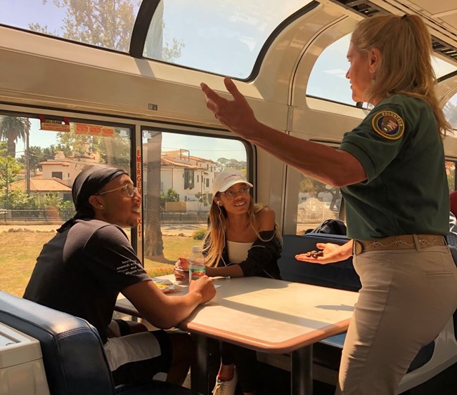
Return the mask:
[[187,295],[173,297],[151,281],[121,229],[136,227],[141,206],[141,196],[124,170],[84,169],[75,179],[72,197],[77,213],[44,245],[25,299],[95,326],[116,385],[164,375],[182,384],[193,351],[191,337],[163,330],[108,337],[112,312],[122,293],[153,326],[170,328],[214,297],[212,281],[204,276],[191,282]]

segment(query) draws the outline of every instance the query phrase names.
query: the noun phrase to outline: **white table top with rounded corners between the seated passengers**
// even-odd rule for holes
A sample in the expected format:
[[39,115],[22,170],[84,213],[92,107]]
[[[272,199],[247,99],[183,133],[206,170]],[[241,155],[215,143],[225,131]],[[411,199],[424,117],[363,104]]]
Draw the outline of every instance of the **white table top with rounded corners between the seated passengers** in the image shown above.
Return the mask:
[[[219,285],[216,297],[195,309],[179,328],[270,353],[292,352],[343,332],[359,297],[262,277],[214,279],[214,284]],[[129,305],[128,300],[118,302]]]

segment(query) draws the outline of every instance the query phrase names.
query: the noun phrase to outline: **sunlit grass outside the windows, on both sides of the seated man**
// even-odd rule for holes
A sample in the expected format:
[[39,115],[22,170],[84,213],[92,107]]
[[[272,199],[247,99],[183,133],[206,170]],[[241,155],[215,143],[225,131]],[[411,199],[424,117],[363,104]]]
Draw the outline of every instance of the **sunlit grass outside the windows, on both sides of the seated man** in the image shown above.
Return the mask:
[[[30,279],[37,256],[44,243],[55,232],[0,232],[0,289],[16,296],[22,296]],[[192,246],[201,241],[191,237],[162,236],[164,258],[145,260],[146,272],[152,277],[171,274],[178,257],[191,255]]]

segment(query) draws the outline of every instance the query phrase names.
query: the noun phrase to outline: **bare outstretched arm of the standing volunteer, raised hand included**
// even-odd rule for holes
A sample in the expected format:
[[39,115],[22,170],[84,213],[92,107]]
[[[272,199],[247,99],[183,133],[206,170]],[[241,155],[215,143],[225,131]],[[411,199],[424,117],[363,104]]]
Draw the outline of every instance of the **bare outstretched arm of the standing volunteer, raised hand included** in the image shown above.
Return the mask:
[[260,123],[245,97],[228,77],[225,86],[233,96],[227,100],[201,83],[205,102],[214,116],[233,133],[242,136],[281,161],[333,187],[343,187],[366,180],[361,163],[351,154],[286,135]]

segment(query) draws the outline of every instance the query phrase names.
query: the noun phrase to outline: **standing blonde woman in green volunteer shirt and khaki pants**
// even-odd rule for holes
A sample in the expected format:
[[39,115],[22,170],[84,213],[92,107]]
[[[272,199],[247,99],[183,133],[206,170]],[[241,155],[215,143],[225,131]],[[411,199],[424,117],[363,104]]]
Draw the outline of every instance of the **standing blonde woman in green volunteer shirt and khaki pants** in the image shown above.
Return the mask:
[[340,149],[259,123],[230,79],[234,100],[205,83],[207,107],[234,133],[333,187],[346,201],[344,246],[318,243],[326,264],[353,253],[361,278],[340,366],[339,394],[394,394],[419,349],[457,307],[457,271],[444,235],[449,191],[432,44],[416,15],[366,18],[352,33],[346,74],[352,99],[374,108]]

